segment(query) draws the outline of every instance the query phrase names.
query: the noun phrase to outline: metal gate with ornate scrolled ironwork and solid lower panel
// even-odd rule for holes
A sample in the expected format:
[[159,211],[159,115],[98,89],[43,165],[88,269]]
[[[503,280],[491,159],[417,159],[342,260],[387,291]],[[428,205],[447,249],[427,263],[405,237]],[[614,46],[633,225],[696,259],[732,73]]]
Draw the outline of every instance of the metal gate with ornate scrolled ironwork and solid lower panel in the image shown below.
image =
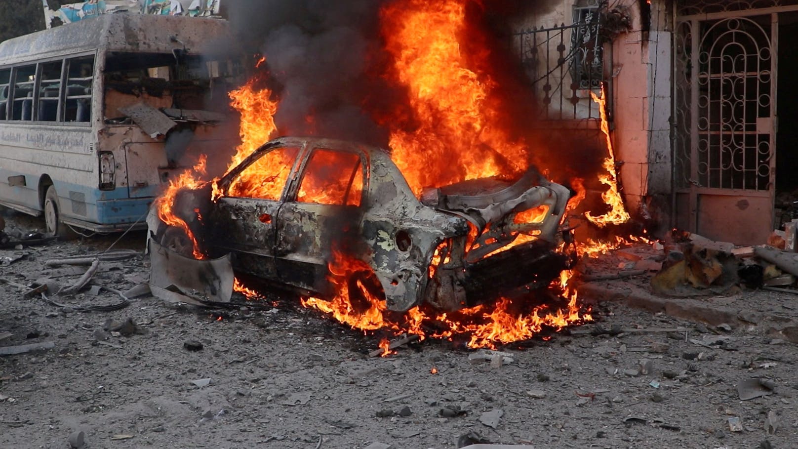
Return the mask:
[[674,213],[679,228],[761,244],[773,226],[778,16],[744,14],[677,19]]

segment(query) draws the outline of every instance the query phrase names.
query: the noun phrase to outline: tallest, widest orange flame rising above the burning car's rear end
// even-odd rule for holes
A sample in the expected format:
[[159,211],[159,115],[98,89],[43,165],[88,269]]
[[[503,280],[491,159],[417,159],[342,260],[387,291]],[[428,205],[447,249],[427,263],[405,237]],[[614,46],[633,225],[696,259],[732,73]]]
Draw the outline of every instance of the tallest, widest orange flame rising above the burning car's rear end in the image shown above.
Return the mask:
[[[415,129],[389,121],[393,160],[415,193],[479,177],[512,176],[527,168],[526,146],[500,124],[496,82],[461,49],[469,38],[472,0],[399,0],[381,10],[393,81],[409,92]],[[479,55],[477,55],[479,56]]]

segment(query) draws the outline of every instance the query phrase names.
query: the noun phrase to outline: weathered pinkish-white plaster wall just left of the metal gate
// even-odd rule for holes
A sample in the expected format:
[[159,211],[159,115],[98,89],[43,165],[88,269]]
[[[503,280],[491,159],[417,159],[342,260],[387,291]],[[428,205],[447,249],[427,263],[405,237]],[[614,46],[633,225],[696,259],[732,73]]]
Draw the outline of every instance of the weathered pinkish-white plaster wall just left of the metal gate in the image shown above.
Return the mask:
[[[631,29],[618,34],[605,46],[604,73],[610,78],[609,102],[612,141],[618,176],[630,212],[636,217],[670,224],[667,214],[671,192],[671,15],[668,0],[652,0],[650,16],[644,16],[638,0],[613,3],[628,14]],[[549,28],[573,22],[575,0],[544,2],[531,9],[514,24],[516,30],[541,26]],[[570,51],[570,37],[565,44]],[[556,66],[559,54],[549,56]],[[543,62],[540,62],[543,63]],[[565,71],[561,80],[565,89],[571,84]],[[535,85],[538,98],[543,97],[543,83]],[[587,91],[580,96],[587,97]],[[577,121],[591,117],[587,98],[580,101]],[[593,117],[598,117],[593,107]],[[657,208],[658,210],[652,210]]]

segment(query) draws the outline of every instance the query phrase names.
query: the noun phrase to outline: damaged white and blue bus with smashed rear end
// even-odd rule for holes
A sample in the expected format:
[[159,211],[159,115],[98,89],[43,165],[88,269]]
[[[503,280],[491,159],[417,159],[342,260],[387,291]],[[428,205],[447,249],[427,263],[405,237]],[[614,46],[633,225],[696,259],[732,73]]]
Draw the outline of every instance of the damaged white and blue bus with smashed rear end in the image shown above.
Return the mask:
[[0,205],[56,235],[145,228],[161,185],[237,137],[226,39],[219,19],[107,14],[0,42]]

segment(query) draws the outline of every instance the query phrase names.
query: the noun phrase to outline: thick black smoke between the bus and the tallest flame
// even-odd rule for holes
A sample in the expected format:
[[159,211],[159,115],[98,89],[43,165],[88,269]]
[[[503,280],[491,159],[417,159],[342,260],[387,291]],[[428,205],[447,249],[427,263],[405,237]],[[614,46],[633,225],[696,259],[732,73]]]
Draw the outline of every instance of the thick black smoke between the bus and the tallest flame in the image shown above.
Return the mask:
[[[263,53],[280,98],[279,134],[318,135],[386,146],[373,109],[396,92],[374,76],[381,39],[375,0],[231,0],[235,34]],[[368,110],[367,110],[368,109]]]

